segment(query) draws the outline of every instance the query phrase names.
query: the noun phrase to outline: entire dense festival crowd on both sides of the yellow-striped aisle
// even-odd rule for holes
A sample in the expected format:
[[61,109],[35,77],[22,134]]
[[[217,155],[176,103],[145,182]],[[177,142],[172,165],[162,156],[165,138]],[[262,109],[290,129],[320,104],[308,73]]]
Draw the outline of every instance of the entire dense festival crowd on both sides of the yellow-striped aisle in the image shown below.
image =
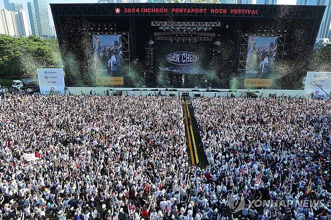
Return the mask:
[[0,219],[329,218],[329,101],[194,99],[200,168],[179,97],[0,95]]

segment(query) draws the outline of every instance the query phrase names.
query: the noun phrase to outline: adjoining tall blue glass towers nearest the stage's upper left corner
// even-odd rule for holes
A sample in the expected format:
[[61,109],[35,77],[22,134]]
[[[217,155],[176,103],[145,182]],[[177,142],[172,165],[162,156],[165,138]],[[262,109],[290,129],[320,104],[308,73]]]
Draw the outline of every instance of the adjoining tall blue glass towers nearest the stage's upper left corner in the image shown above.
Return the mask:
[[39,36],[51,35],[47,0],[33,0],[33,2],[29,2],[28,10],[32,33]]

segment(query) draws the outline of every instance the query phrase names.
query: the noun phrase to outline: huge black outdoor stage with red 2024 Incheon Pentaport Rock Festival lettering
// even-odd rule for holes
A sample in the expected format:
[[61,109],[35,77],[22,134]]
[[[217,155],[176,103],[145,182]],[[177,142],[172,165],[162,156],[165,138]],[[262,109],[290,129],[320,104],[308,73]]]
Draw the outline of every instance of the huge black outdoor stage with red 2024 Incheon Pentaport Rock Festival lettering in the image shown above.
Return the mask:
[[325,9],[50,5],[70,87],[300,89]]

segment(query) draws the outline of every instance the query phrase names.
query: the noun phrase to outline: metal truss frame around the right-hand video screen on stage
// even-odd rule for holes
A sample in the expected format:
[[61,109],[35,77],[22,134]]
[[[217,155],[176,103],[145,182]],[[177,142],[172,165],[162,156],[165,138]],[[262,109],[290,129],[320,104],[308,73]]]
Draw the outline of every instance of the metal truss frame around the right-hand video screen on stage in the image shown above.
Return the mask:
[[249,45],[249,37],[277,37],[277,51],[276,51],[276,63],[281,63],[283,61],[284,50],[286,45],[287,34],[242,34],[238,36],[241,38],[241,44],[239,49],[239,62],[238,62],[238,77],[244,77],[246,74],[246,61]]

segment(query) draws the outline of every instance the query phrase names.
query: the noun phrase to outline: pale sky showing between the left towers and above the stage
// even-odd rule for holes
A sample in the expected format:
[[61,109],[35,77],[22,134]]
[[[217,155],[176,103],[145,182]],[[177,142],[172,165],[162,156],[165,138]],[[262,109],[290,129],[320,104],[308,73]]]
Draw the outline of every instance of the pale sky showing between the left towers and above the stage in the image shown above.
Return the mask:
[[[146,2],[147,0],[142,0],[142,2]],[[29,20],[29,14],[28,14],[28,8],[27,8],[27,2],[30,2],[30,0],[11,0],[11,2],[14,3],[21,3],[23,4],[23,7],[25,9],[25,12],[27,14],[28,20]],[[48,3],[97,3],[98,0],[48,0]],[[280,5],[295,5],[296,0],[279,0]],[[0,0],[0,9],[4,9],[4,1]],[[51,15],[50,7],[48,6],[48,14],[49,14],[49,21],[50,25],[54,26],[53,18]],[[29,22],[29,28],[30,28],[30,22]]]

